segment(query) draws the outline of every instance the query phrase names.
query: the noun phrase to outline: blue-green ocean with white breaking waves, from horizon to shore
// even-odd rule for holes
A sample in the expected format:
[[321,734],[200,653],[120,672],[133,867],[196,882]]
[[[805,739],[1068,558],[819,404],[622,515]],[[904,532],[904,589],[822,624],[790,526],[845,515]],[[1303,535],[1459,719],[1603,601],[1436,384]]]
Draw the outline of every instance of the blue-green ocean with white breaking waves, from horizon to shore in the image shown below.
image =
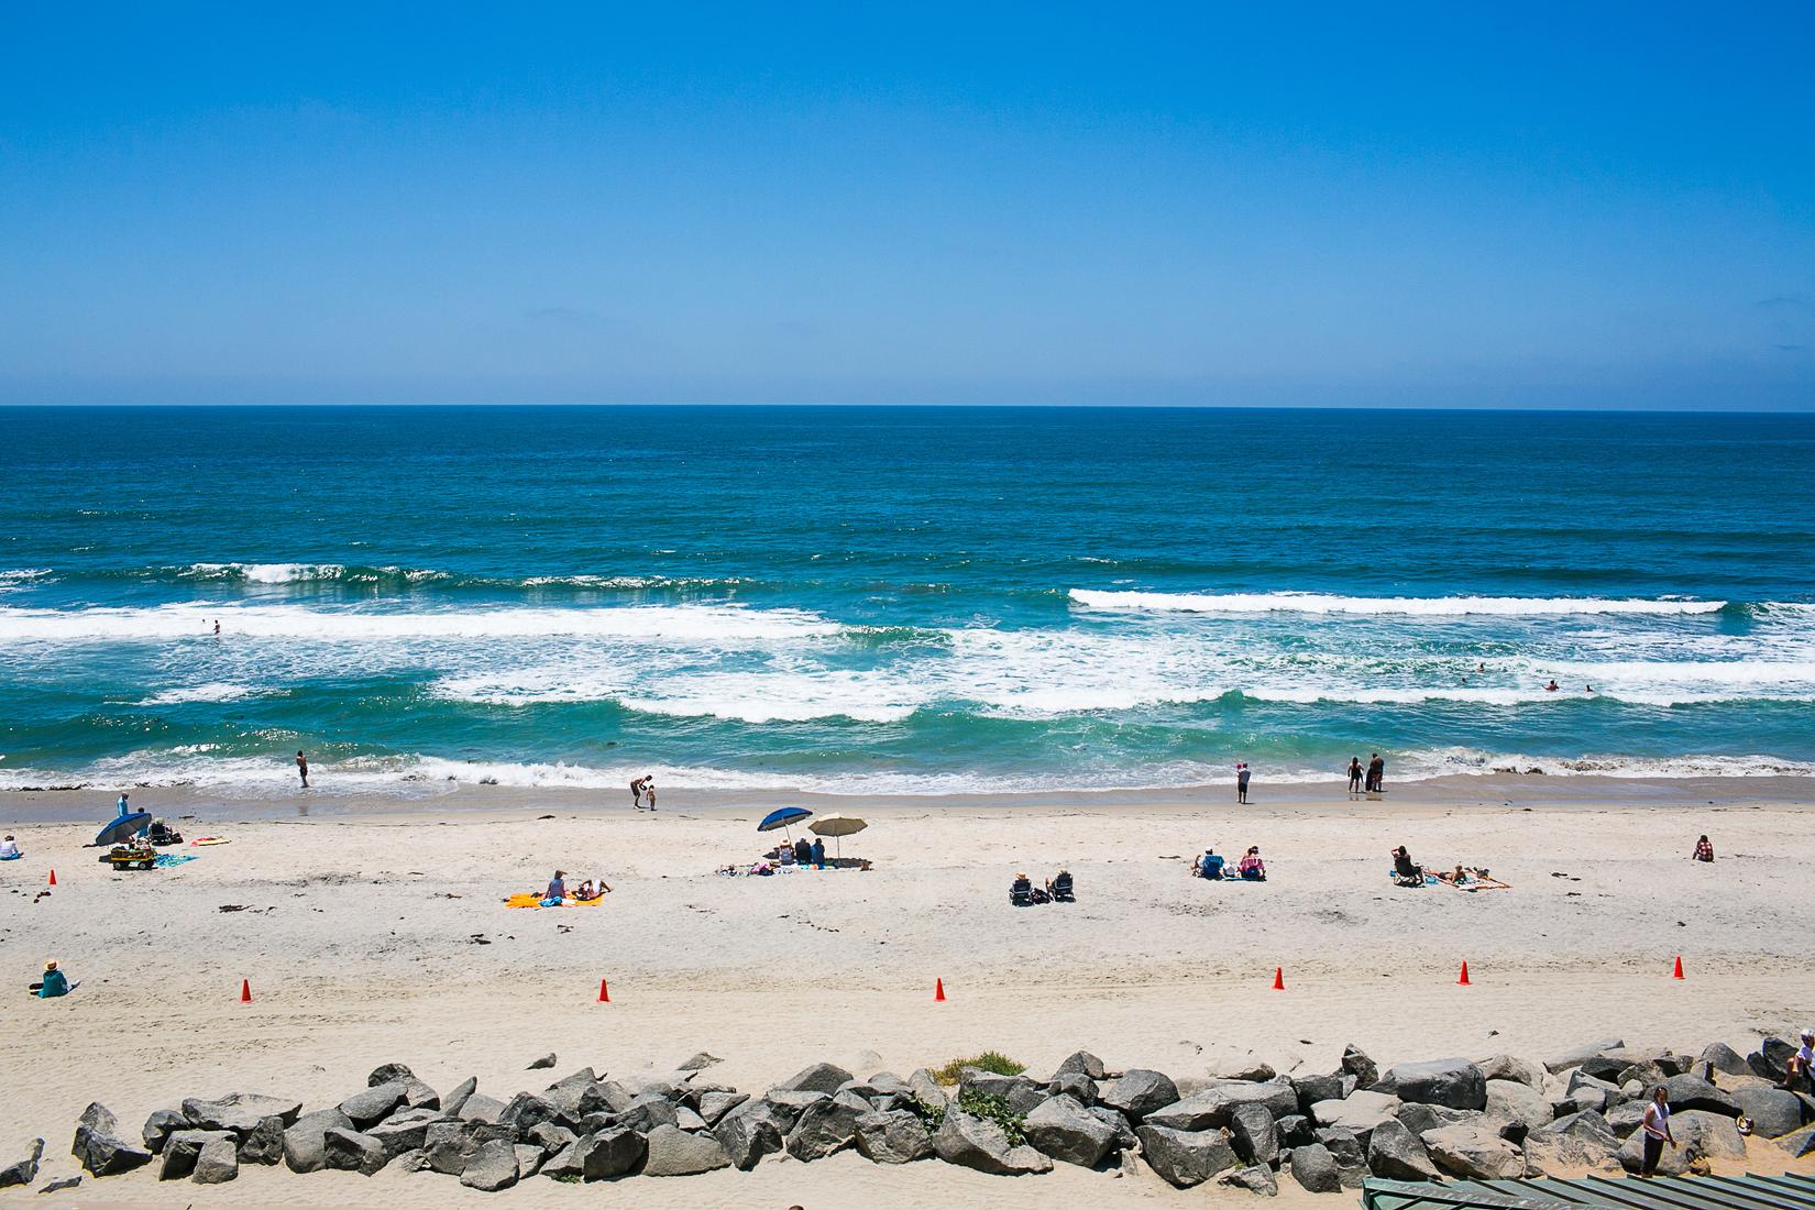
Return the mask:
[[1263,787],[1374,751],[1815,773],[1810,415],[5,408],[0,435],[0,787],[289,791],[299,747],[319,793],[1236,760]]

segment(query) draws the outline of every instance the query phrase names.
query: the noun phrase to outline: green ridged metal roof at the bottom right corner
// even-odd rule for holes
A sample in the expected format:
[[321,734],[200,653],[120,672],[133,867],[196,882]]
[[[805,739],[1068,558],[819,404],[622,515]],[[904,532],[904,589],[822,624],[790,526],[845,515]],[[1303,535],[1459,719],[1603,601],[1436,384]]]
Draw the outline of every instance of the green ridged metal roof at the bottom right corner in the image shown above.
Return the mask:
[[1367,1210],[1815,1210],[1815,1176],[1361,1183]]

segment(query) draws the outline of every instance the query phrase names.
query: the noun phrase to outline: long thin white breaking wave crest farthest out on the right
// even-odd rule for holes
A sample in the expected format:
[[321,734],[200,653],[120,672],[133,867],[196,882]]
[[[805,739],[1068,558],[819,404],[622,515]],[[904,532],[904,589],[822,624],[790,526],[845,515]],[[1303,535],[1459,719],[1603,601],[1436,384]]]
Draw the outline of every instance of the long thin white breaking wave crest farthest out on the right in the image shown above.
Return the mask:
[[1087,610],[1163,613],[1363,613],[1545,617],[1570,613],[1719,613],[1724,600],[1601,597],[1334,597],[1327,593],[1138,593],[1073,588]]

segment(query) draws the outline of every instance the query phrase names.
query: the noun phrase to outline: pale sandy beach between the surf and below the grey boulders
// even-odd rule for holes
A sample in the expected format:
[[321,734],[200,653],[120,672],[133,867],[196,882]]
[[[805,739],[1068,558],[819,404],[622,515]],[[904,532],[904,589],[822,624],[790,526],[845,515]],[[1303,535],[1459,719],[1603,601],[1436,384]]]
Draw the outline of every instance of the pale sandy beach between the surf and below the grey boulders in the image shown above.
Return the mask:
[[[103,796],[15,795],[0,813],[22,820],[11,831],[27,856],[0,867],[0,952],[20,985],[54,956],[80,987],[4,1001],[0,1147],[24,1152],[44,1134],[47,1177],[64,1176],[91,1099],[134,1127],[183,1096],[229,1090],[314,1107],[387,1061],[436,1087],[477,1076],[508,1098],[583,1065],[659,1072],[699,1050],[722,1059],[711,1078],[760,1088],[817,1059],[906,1074],[984,1049],[1035,1074],[1076,1049],[1111,1067],[1211,1074],[1258,1056],[1310,1072],[1334,1067],[1345,1043],[1381,1063],[1543,1058],[1604,1036],[1744,1050],[1808,1023],[1815,974],[1784,961],[1815,909],[1806,786],[1684,784],[1661,800],[1534,780],[1407,787],[1392,802],[1303,791],[1249,807],[844,802],[869,820],[844,851],[875,869],[771,878],[715,873],[764,847],[760,805],[639,815],[603,796],[485,787],[203,805],[140,791],[136,805],[187,836],[229,844],[114,874],[83,847],[109,813]],[[58,815],[83,822],[45,822]],[[1712,867],[1688,862],[1701,833],[1719,853]],[[1187,876],[1203,847],[1251,844],[1267,883]],[[1432,865],[1486,865],[1512,889],[1398,889],[1394,844]],[[557,865],[575,880],[603,874],[606,903],[503,907]],[[1060,865],[1078,903],[1009,907],[1015,871],[1038,880]],[[53,867],[58,885],[38,898]],[[1679,954],[1683,981],[1670,978]],[[1470,987],[1457,985],[1461,961]],[[1283,992],[1270,987],[1276,967]],[[597,1003],[601,978],[610,1003]],[[554,1072],[525,1070],[550,1050]],[[1036,1181],[1109,1205],[1247,1197],[1182,1194],[1151,1172]],[[147,1168],[78,1201],[909,1206],[1006,1190],[947,1165],[842,1156],[584,1190],[530,1181],[495,1197],[452,1181],[258,1168],[229,1188],[171,1194]]]

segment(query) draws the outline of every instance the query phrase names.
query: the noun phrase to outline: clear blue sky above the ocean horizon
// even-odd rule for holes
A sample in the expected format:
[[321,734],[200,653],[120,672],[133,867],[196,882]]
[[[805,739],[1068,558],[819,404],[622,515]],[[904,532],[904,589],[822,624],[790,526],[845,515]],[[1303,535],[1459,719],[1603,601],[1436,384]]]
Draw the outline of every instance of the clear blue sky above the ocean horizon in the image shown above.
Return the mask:
[[9,5],[36,401],[1810,408],[1815,4]]

